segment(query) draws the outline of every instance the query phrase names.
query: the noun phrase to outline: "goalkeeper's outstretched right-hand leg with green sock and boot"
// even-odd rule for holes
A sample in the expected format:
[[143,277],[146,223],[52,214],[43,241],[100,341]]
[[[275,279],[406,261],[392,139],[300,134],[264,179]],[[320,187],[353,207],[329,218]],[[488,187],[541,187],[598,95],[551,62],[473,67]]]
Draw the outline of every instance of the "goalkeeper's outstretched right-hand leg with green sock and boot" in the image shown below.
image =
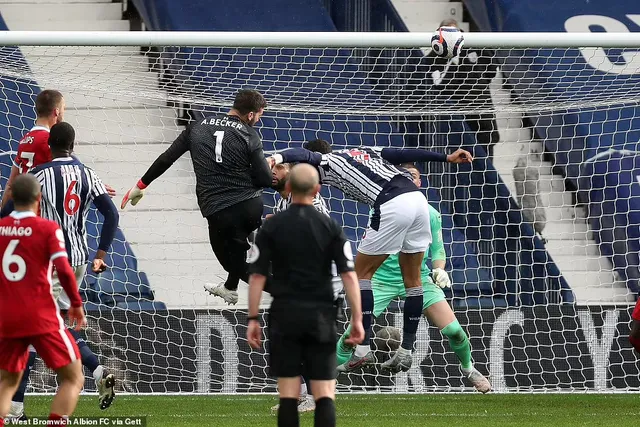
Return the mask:
[[425,297],[429,301],[425,301],[424,315],[429,323],[436,326],[447,337],[449,346],[460,361],[462,373],[469,379],[471,384],[481,393],[491,391],[491,383],[485,378],[471,362],[471,344],[466,332],[460,326],[460,322],[456,319],[453,310],[445,301],[444,293],[435,285],[429,284],[433,290],[427,291]]

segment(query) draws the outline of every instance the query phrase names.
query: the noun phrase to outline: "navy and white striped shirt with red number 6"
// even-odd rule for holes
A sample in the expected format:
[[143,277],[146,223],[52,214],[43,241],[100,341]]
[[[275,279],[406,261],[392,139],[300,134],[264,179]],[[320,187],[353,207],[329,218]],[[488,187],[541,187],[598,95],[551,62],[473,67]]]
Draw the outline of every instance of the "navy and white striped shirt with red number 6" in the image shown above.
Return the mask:
[[[40,216],[57,222],[62,228],[71,265],[77,267],[86,264],[89,258],[86,229],[89,208],[97,199],[103,205],[108,199],[113,206],[104,184],[92,169],[72,157],[56,158],[36,167],[32,173],[42,186]],[[100,203],[95,204],[105,217],[99,249],[106,250],[111,245],[117,227],[117,210],[113,206],[113,212],[107,212],[111,206],[102,209],[98,206]],[[105,230],[105,227],[110,230]]]

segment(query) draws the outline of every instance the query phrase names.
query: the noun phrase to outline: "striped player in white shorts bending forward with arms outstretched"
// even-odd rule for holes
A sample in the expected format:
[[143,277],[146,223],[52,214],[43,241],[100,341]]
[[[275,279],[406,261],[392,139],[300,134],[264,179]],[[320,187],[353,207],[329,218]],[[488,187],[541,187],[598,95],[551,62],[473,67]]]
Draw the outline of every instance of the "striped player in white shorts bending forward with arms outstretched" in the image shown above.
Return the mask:
[[333,152],[328,142],[310,141],[304,148],[284,150],[270,162],[304,162],[318,168],[323,184],[373,208],[369,226],[358,246],[355,270],[360,280],[365,339],[341,367],[343,372],[373,363],[369,346],[373,311],[371,278],[389,255],[398,260],[406,288],[401,348],[392,356],[392,372],[411,368],[411,352],[422,314],[420,267],[431,243],[429,205],[413,183],[411,174],[395,167],[408,162],[468,163],[471,154],[459,149],[445,155],[421,149],[358,147]]

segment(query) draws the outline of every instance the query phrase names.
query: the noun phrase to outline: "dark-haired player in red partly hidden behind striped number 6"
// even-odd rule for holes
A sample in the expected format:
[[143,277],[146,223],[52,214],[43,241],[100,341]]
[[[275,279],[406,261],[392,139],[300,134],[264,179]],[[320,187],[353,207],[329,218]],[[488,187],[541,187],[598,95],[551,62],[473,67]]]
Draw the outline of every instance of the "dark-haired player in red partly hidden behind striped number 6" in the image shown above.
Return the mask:
[[36,124],[18,144],[18,153],[13,159],[11,175],[2,196],[2,206],[11,199],[11,185],[16,176],[51,161],[49,129],[63,120],[64,110],[64,97],[59,91],[47,89],[36,96]]

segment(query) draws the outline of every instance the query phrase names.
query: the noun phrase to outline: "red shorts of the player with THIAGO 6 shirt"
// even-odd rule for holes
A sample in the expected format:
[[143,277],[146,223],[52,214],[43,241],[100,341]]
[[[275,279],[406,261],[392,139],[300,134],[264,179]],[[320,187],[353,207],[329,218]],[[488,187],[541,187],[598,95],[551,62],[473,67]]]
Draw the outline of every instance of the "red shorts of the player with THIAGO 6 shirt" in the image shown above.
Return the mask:
[[24,371],[29,345],[33,345],[44,363],[54,371],[80,359],[75,339],[65,328],[31,337],[0,338],[0,369],[16,373]]

